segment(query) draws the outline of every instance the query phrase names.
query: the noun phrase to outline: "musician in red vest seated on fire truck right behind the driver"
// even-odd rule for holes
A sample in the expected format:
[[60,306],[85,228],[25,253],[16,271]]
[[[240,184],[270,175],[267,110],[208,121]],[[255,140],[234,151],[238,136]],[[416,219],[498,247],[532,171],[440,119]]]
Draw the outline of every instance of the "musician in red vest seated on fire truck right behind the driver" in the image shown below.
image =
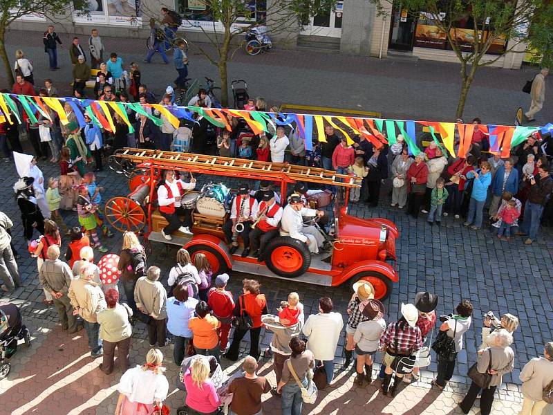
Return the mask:
[[279,235],[279,223],[282,219],[282,208],[274,200],[274,192],[265,190],[260,195],[259,211],[254,222],[254,229],[250,233],[250,246],[252,257],[257,257],[258,262],[263,262],[265,246],[274,237]]

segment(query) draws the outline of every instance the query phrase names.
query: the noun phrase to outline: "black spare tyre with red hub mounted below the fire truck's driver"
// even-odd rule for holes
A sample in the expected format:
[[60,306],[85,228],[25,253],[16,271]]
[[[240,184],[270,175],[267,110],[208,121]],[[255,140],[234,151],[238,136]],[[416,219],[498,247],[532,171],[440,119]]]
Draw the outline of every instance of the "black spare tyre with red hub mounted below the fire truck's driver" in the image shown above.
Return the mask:
[[265,264],[273,273],[281,277],[299,277],[311,265],[309,248],[298,239],[274,238],[268,243],[265,252]]

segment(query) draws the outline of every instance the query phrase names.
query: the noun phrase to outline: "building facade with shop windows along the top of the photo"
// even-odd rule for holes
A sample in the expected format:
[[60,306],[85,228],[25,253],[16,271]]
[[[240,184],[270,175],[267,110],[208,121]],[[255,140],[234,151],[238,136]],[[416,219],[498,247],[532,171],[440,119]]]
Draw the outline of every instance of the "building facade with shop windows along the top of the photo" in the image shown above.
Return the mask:
[[[172,1],[172,2],[171,2]],[[263,18],[264,8],[256,10],[256,5],[265,0],[248,0],[247,7],[252,14],[249,19]],[[205,33],[214,30],[223,32],[223,25],[214,21],[202,0],[88,0],[90,12],[71,10],[64,16],[57,16],[59,21],[57,31],[64,30],[88,35],[91,28],[97,27],[103,36],[140,37],[149,35],[149,19],[160,19],[160,8],[165,6],[177,10],[184,17],[182,35],[192,42],[205,41]],[[268,0],[266,10],[270,10],[271,0]],[[378,15],[376,6],[368,0],[339,0],[335,10],[319,13],[315,17],[303,21],[288,21],[285,30],[283,19],[268,17],[268,32],[273,42],[287,48],[307,47],[339,51],[349,55],[386,57],[413,57],[431,59],[441,62],[458,62],[449,47],[445,35],[433,26],[426,12],[408,12],[401,4],[392,8],[388,5],[384,14]],[[244,19],[244,24],[247,21]],[[25,30],[45,30],[47,21],[39,15],[26,16],[12,25],[13,28]],[[236,28],[244,26],[236,23]],[[277,27],[278,26],[278,30]],[[464,51],[471,50],[472,29],[456,30]],[[239,39],[241,40],[242,37]],[[491,66],[501,68],[521,68],[525,50],[524,45],[518,45],[513,52],[498,57],[507,42],[498,42],[490,48],[485,60],[494,60]]]

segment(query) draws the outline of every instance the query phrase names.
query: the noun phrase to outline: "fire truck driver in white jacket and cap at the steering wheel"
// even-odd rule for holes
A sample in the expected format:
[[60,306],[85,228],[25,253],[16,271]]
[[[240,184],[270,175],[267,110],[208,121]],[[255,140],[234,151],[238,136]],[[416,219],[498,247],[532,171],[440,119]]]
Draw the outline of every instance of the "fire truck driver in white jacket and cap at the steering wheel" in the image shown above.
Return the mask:
[[281,235],[299,239],[307,243],[310,252],[319,253],[319,247],[323,246],[324,236],[313,225],[303,226],[303,216],[319,216],[321,218],[324,211],[306,208],[301,201],[301,196],[297,193],[290,196],[290,202],[283,210],[281,220]]

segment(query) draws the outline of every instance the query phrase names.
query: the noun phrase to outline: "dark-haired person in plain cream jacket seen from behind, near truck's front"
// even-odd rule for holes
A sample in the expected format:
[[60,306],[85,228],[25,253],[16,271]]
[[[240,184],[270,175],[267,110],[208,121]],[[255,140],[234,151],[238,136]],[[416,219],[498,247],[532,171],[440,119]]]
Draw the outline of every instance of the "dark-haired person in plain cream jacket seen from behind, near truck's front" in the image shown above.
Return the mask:
[[328,384],[334,378],[334,357],[344,328],[344,319],[340,313],[332,311],[333,307],[332,299],[319,298],[319,313],[310,315],[301,330],[309,338],[307,348],[315,359],[322,360]]

